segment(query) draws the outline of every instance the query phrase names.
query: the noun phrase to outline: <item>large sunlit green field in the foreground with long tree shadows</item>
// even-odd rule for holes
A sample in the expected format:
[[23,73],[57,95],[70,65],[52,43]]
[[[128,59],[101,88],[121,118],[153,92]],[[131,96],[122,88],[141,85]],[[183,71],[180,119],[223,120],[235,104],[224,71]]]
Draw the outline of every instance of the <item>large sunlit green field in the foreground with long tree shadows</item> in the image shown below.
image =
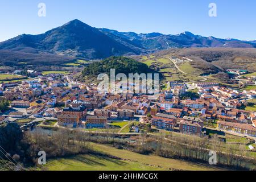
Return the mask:
[[49,171],[138,171],[138,170],[220,170],[221,168],[183,160],[167,159],[155,155],[141,155],[127,150],[119,150],[103,144],[92,143],[93,150],[115,156],[119,159],[102,155],[76,155],[69,158],[48,160],[44,168]]

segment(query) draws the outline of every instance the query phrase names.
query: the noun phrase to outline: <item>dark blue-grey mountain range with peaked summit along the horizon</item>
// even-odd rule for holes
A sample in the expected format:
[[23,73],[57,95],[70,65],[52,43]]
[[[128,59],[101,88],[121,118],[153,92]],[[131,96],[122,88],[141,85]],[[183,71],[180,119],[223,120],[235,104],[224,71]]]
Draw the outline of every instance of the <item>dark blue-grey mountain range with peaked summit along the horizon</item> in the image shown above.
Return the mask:
[[[20,55],[22,52],[55,55],[55,57],[60,55],[102,59],[113,55],[138,55],[170,48],[189,47],[256,48],[256,40],[218,39],[213,36],[194,35],[191,32],[178,35],[118,32],[106,28],[93,28],[75,19],[44,34],[23,34],[1,42],[0,59],[2,51],[10,51],[13,55],[16,53]],[[22,60],[22,57],[19,60]]]

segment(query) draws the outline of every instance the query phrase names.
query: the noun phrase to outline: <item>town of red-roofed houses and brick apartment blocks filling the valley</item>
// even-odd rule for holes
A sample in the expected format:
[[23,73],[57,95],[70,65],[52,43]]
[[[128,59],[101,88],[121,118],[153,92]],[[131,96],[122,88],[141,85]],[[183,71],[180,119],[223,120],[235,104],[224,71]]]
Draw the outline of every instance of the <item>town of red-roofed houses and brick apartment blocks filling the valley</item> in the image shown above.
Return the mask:
[[188,90],[187,84],[177,81],[168,82],[152,100],[146,94],[98,93],[96,84],[74,81],[71,73],[28,73],[31,79],[0,85],[1,100],[10,103],[10,108],[1,113],[1,123],[16,122],[22,130],[51,125],[102,131],[112,128],[113,123],[130,122],[133,130],[127,133],[141,133],[150,126],[201,137],[218,134],[223,141],[225,133],[256,138],[256,113],[240,109],[256,98],[255,89],[194,82],[193,90]]

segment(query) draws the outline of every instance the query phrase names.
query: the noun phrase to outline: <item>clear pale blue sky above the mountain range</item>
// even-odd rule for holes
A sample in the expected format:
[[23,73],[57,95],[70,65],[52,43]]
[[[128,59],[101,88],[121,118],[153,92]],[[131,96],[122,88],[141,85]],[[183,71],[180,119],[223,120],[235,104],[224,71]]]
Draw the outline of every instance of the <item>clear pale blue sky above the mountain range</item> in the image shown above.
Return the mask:
[[[38,4],[46,4],[46,17]],[[216,3],[217,17],[208,15]],[[137,33],[179,34],[256,40],[255,0],[0,0],[0,41],[42,34],[72,19],[92,27]]]

